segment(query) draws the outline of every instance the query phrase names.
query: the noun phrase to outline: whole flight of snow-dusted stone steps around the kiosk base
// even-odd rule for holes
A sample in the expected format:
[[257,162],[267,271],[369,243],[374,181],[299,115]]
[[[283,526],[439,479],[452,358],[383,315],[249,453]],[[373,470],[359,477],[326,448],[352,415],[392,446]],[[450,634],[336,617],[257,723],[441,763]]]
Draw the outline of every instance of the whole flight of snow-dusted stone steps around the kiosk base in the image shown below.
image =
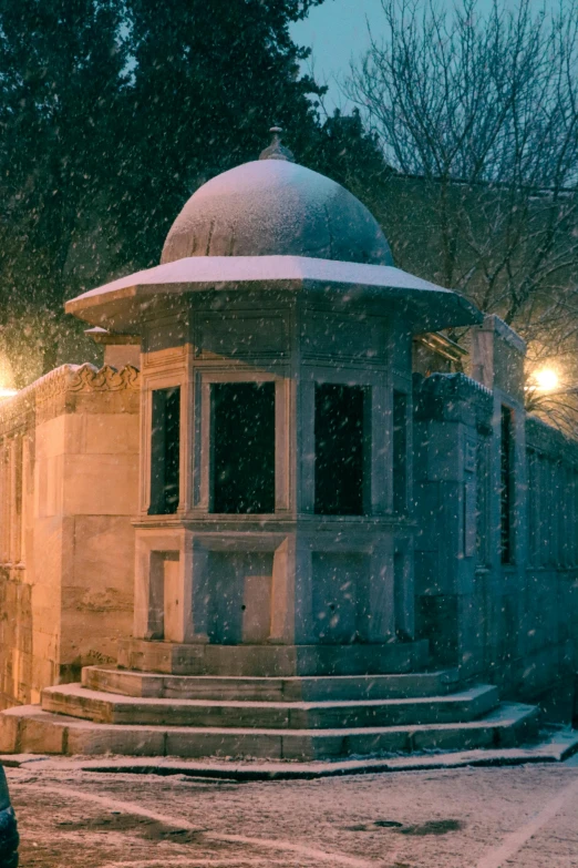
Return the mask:
[[[183,662],[175,647],[147,643],[143,653],[147,660],[157,655],[156,671],[140,670],[138,661],[146,663],[143,654],[125,649],[133,668],[87,666],[81,684],[44,690],[41,706],[3,712],[0,750],[312,760],[514,747],[537,734],[536,707],[500,703],[496,687],[464,685],[454,670],[190,674],[199,668],[198,654],[190,657],[195,663]],[[213,649],[206,646],[209,654]],[[238,646],[220,649],[220,664],[230,665]],[[413,651],[422,655],[419,647]],[[258,657],[257,646],[255,653]],[[162,660],[169,671],[162,671]],[[318,657],[309,666],[302,660],[297,668],[319,672]],[[390,668],[409,665],[403,655],[393,663],[391,657]],[[242,654],[239,665],[245,668]],[[351,661],[343,665],[355,668]],[[200,668],[206,667],[205,660]],[[296,668],[295,661],[288,668]]]

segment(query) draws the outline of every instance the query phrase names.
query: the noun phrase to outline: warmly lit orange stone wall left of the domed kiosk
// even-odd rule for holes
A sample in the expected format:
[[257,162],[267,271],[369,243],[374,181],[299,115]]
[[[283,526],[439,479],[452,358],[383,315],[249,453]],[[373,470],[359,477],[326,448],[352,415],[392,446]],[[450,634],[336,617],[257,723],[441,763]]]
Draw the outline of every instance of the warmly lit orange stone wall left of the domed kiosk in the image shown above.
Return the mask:
[[63,366],[0,405],[0,704],[131,632],[140,375]]

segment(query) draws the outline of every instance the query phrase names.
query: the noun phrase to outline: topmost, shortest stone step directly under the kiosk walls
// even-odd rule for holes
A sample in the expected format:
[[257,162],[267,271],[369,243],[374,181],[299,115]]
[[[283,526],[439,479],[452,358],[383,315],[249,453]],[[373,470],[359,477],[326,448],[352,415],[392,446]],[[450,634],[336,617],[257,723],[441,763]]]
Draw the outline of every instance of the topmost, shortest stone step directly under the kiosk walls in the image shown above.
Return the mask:
[[383,675],[421,672],[429,643],[351,645],[177,644],[144,639],[118,641],[118,665],[166,675],[287,677],[292,675]]

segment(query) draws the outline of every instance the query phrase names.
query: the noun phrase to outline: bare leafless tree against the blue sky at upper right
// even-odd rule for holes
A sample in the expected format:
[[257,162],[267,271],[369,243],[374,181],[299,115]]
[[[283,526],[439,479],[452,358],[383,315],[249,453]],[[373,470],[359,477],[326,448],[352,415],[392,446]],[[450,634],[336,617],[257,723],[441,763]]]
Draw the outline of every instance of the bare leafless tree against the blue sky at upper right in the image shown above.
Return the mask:
[[380,216],[398,263],[578,380],[578,2],[382,6],[343,86],[393,169]]

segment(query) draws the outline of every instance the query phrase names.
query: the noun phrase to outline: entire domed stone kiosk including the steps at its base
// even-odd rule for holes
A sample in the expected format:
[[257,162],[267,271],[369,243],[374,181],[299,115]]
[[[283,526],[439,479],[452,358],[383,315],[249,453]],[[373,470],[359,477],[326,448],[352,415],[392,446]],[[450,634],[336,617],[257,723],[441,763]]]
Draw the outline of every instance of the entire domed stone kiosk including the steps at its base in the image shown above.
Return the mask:
[[357,198],[276,135],[192,196],[159,266],[68,310],[141,338],[141,464],[133,636],[118,667],[43,692],[62,749],[308,758],[527,734],[534,708],[430,667],[415,637],[412,337],[482,316],[393,267]]

